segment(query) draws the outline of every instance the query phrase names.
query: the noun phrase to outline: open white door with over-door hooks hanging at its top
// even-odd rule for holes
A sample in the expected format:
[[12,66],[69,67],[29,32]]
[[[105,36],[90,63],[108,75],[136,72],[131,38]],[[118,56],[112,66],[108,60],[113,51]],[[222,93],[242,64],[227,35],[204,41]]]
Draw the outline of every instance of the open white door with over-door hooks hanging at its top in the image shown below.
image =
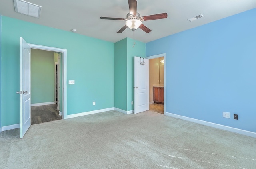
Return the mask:
[[134,57],[134,114],[149,110],[149,60]]

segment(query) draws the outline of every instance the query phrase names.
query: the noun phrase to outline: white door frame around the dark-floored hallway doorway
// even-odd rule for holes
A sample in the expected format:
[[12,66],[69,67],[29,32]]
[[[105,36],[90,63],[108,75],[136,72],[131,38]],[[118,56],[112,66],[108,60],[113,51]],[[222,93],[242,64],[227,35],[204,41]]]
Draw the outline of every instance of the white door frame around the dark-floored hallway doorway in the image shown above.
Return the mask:
[[31,47],[31,49],[40,49],[45,51],[53,51],[53,52],[60,52],[63,53],[62,55],[62,87],[63,87],[63,94],[62,94],[62,112],[63,112],[63,119],[67,118],[67,49],[60,49],[56,47],[48,47],[48,46],[42,46],[42,45],[35,45],[30,44],[28,45]]

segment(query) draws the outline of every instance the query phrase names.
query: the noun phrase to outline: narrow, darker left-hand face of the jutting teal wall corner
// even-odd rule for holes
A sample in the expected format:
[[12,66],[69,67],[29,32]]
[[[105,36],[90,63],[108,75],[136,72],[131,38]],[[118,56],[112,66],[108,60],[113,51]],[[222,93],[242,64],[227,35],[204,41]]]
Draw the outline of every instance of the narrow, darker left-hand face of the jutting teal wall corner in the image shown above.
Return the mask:
[[115,107],[126,110],[127,39],[115,43]]

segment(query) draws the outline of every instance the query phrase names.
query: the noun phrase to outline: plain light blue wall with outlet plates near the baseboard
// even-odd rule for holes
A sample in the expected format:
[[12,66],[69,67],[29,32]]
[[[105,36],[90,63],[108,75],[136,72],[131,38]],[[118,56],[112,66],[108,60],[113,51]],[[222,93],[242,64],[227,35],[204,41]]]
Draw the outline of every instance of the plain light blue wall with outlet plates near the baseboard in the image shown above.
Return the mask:
[[166,112],[256,132],[255,16],[256,8],[146,43],[146,56],[167,55]]

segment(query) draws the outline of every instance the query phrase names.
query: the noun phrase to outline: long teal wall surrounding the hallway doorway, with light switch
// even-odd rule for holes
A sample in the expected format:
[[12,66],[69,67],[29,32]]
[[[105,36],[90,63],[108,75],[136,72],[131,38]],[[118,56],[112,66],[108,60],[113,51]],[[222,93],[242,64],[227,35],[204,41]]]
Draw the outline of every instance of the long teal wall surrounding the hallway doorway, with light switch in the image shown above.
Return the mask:
[[68,115],[114,107],[114,43],[2,16],[2,126],[20,122],[20,37],[67,49]]

